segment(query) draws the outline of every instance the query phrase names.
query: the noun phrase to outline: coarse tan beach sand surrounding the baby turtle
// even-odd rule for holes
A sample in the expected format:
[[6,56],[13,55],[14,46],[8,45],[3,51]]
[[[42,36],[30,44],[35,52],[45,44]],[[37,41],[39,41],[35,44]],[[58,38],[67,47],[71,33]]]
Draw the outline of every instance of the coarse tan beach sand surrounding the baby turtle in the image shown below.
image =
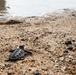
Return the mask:
[[[74,41],[73,50],[64,54],[67,39]],[[33,55],[6,62],[9,50],[20,44]],[[36,71],[41,75],[76,75],[76,11],[0,19],[0,75],[34,75]]]

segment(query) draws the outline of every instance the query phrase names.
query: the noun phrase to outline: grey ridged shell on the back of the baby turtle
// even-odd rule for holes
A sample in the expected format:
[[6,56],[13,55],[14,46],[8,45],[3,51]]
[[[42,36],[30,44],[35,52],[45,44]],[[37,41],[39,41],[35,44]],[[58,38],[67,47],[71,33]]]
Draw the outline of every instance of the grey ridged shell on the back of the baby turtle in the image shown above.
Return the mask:
[[25,55],[24,50],[18,48],[17,50],[15,50],[13,53],[10,54],[9,59],[10,60],[21,59],[22,57],[24,57],[24,55]]

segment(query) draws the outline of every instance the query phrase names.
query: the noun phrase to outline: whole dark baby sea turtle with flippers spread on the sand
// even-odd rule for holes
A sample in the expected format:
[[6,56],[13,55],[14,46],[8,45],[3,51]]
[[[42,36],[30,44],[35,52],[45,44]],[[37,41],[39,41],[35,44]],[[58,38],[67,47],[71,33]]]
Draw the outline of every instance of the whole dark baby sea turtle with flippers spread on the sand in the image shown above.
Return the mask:
[[19,48],[17,48],[16,50],[10,50],[10,52],[12,53],[10,54],[9,59],[7,59],[6,61],[21,60],[24,59],[24,56],[26,54],[32,55],[32,52],[24,50],[24,45],[19,45]]

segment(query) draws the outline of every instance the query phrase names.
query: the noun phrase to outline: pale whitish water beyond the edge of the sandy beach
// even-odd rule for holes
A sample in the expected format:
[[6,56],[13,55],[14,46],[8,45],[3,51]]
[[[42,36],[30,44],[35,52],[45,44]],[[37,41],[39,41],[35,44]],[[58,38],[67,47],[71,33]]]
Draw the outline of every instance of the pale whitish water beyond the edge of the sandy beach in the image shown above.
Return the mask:
[[0,17],[39,16],[63,8],[76,8],[76,0],[0,0]]

